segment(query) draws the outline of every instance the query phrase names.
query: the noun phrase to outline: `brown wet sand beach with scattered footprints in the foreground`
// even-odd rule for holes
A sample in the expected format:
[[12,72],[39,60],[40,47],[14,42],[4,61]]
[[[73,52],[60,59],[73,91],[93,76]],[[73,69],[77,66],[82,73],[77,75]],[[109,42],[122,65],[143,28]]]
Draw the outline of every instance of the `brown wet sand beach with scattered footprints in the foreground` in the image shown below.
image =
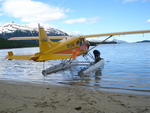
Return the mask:
[[150,95],[0,81],[0,113],[150,113]]

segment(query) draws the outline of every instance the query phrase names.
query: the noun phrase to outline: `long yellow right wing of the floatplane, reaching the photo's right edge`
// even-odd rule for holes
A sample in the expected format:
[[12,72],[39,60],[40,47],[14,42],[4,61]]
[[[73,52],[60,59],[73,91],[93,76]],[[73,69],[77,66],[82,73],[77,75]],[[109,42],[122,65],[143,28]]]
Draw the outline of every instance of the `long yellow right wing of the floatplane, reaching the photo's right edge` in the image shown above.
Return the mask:
[[80,36],[80,38],[114,36],[114,35],[126,35],[126,34],[139,34],[139,33],[150,33],[150,30],[127,31],[127,32],[116,32],[116,33],[103,33],[103,34],[93,34],[93,35],[83,35],[83,36]]

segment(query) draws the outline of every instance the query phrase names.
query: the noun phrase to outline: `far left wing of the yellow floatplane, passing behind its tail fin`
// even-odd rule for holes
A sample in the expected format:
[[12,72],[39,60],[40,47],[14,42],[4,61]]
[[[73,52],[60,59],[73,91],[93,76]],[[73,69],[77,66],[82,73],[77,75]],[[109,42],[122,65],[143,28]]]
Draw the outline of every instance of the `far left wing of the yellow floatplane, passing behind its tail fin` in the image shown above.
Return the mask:
[[[63,39],[68,36],[48,36],[49,39]],[[8,40],[39,40],[39,37],[12,37]]]

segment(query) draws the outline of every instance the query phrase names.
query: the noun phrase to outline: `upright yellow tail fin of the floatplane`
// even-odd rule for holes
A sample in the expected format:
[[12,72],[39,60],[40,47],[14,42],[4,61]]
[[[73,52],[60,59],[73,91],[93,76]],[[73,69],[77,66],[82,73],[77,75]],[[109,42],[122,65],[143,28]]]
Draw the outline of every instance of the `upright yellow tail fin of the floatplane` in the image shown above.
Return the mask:
[[43,27],[40,27],[39,25],[39,47],[40,52],[47,51],[53,47],[55,42],[52,42],[50,39],[48,39],[46,32]]

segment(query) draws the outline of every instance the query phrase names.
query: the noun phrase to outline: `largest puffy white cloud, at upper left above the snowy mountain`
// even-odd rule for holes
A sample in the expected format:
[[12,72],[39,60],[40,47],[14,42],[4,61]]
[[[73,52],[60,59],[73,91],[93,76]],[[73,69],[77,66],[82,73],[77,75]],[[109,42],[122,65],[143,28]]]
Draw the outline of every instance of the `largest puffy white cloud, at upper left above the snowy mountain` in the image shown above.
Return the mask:
[[5,0],[1,12],[10,17],[20,18],[22,22],[49,22],[66,17],[69,9],[33,0]]

